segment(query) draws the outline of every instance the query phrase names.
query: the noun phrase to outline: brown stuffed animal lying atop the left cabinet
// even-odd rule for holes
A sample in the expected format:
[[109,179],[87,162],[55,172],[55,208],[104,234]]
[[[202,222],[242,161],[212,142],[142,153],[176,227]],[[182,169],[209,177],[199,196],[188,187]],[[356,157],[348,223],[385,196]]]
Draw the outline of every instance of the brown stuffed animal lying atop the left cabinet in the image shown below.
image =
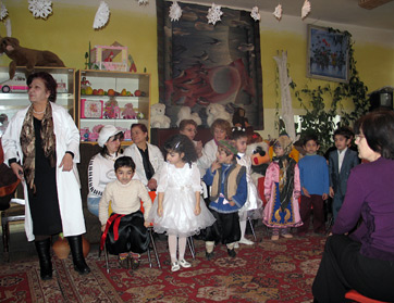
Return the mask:
[[20,41],[12,37],[0,39],[0,54],[2,53],[12,60],[9,67],[10,79],[14,77],[16,66],[26,66],[26,76],[34,71],[34,66],[64,67],[63,61],[53,52],[21,47]]

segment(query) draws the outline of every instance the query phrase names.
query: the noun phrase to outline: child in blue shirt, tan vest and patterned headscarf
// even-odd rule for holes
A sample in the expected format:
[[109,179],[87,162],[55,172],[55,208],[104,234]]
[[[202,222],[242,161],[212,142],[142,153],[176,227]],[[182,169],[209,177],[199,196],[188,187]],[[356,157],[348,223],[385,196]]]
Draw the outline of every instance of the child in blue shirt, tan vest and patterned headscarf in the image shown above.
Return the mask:
[[247,199],[246,167],[236,163],[238,153],[234,141],[218,142],[217,161],[207,169],[204,181],[211,186],[209,209],[217,222],[206,229],[206,256],[213,257],[216,243],[227,247],[235,257],[234,245],[241,239],[238,211]]

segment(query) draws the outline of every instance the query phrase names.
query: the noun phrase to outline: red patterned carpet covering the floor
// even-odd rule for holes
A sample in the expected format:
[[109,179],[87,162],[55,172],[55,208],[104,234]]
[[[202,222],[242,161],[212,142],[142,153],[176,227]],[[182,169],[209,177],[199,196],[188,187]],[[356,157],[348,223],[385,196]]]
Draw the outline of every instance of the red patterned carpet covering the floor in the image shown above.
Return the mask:
[[[41,281],[37,258],[11,263],[0,267],[0,302],[310,302],[324,241],[317,235],[276,242],[266,237],[241,245],[235,258],[219,245],[207,261],[204,242],[195,240],[193,267],[176,273],[170,270],[167,241],[158,240],[162,269],[149,268],[146,254],[137,270],[120,268],[111,256],[107,274],[103,257],[93,251],[90,275],[76,274],[71,257],[53,257],[54,278]],[[192,261],[188,251],[186,258]]]

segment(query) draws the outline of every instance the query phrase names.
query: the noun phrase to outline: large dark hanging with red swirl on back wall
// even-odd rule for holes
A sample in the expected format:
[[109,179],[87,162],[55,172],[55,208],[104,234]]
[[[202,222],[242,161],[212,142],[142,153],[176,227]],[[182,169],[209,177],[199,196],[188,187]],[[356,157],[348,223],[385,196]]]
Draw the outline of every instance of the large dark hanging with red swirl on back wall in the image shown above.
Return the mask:
[[208,127],[207,109],[222,104],[231,115],[239,108],[255,129],[262,129],[262,79],[259,23],[250,12],[222,9],[209,24],[209,7],[177,2],[182,16],[171,22],[172,1],[157,0],[159,102],[171,126],[183,106]]

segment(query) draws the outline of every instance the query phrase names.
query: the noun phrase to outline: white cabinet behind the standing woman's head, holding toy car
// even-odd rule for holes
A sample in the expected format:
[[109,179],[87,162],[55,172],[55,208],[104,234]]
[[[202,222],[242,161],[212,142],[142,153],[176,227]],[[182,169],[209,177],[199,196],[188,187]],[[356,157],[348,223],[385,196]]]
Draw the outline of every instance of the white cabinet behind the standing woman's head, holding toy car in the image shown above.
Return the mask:
[[[16,67],[12,80],[9,67],[0,66],[0,137],[11,117],[20,110],[28,106],[26,68]],[[58,83],[57,104],[64,106],[75,121],[75,70],[69,67],[35,67],[34,72],[48,72]]]

